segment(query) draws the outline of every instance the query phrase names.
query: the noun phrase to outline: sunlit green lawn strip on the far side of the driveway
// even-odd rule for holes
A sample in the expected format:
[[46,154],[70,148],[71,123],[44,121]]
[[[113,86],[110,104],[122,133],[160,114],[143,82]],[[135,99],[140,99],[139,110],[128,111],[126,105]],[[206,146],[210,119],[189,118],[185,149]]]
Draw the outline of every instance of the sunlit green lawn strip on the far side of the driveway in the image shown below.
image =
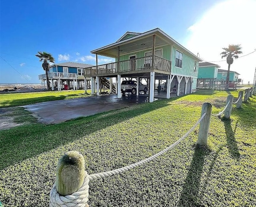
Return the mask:
[[24,106],[45,101],[74,99],[87,96],[90,96],[90,91],[87,91],[87,94],[84,94],[84,90],[6,93],[0,94],[0,108],[9,106]]

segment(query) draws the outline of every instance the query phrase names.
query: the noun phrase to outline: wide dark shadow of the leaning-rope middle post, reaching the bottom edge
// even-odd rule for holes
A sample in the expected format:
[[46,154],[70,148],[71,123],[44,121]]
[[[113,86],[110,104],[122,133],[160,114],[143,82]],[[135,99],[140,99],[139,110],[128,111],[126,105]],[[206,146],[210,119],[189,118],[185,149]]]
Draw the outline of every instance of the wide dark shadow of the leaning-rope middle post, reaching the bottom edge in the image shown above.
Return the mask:
[[179,207],[200,206],[198,193],[203,172],[204,158],[208,154],[210,154],[210,149],[196,145],[190,168],[186,180],[184,181],[180,201],[178,202]]

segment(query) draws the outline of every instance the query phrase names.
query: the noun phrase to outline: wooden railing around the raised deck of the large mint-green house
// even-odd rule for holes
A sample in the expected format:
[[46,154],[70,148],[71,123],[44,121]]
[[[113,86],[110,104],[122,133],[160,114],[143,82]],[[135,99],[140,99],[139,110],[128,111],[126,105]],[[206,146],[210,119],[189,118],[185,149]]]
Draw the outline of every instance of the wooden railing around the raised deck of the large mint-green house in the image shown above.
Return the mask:
[[[152,65],[152,60],[154,57],[154,65]],[[171,70],[171,61],[158,57],[156,55],[150,55],[146,57],[139,57],[124,61],[119,61],[115,63],[108,63],[104,65],[98,65],[87,67],[84,69],[85,75],[103,75],[111,74],[118,72],[130,72],[130,71],[145,71],[157,69],[160,71],[170,72]]]

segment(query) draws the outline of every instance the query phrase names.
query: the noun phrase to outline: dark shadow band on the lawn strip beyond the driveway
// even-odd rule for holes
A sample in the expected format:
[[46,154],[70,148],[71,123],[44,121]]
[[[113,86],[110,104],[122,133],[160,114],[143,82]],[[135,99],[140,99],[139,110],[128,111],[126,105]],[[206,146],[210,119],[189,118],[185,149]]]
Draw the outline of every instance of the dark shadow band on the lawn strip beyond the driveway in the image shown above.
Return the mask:
[[46,96],[46,97],[36,97],[36,98],[28,98],[28,99],[15,99],[8,101],[0,101],[0,108],[4,107],[12,107],[12,106],[25,106],[29,104],[42,103],[46,101],[58,101],[69,98],[76,97],[87,97],[89,94],[69,94],[69,95],[60,95],[60,96]]

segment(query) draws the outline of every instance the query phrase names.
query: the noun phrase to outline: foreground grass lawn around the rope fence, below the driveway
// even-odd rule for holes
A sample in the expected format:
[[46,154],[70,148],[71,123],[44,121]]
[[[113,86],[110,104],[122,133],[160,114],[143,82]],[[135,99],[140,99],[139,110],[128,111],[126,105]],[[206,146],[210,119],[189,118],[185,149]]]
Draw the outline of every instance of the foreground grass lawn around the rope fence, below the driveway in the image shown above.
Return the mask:
[[[2,130],[0,201],[6,207],[48,206],[58,159],[65,152],[81,152],[89,174],[127,166],[185,134],[200,117],[205,101],[218,112],[228,93],[200,91],[61,124],[34,123]],[[230,93],[238,96],[237,91]],[[155,161],[90,181],[89,205],[255,206],[255,118],[253,97],[241,109],[233,108],[230,120],[211,118],[207,148],[195,144],[197,127]]]

